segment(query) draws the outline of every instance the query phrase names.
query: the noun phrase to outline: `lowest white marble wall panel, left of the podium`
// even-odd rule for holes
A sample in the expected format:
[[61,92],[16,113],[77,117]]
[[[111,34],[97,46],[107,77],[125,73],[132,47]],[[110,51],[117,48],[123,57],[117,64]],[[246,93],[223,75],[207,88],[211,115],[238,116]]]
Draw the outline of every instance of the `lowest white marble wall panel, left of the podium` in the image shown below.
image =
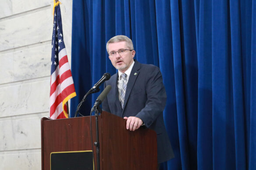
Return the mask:
[[41,170],[41,152],[0,155],[0,170]]

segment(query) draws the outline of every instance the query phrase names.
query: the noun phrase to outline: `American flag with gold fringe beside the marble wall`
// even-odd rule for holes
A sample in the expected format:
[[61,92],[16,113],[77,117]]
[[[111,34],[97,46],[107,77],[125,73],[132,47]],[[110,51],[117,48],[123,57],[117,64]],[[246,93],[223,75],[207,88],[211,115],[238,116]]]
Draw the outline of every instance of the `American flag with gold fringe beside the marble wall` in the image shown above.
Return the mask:
[[54,10],[51,58],[50,118],[68,118],[66,102],[75,97],[75,86],[63,42],[60,5]]

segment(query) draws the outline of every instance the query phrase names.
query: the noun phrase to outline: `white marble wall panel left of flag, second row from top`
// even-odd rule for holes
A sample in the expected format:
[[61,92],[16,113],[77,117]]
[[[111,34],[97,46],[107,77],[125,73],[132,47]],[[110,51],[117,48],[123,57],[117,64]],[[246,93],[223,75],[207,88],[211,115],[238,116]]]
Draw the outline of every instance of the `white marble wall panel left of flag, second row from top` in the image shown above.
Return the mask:
[[52,23],[50,9],[0,22],[0,51],[51,40]]

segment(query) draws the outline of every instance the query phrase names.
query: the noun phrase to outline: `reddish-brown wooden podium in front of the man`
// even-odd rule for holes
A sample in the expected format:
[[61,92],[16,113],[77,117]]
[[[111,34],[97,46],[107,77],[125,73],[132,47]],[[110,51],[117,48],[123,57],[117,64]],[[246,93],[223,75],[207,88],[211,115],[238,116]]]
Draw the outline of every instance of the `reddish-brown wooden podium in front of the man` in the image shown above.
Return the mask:
[[[96,141],[95,116],[92,139]],[[126,120],[103,111],[99,116],[100,170],[156,170],[156,132],[126,129]],[[90,117],[41,119],[42,170],[50,170],[53,152],[92,150]],[[93,146],[96,163],[96,147]],[[69,160],[66,160],[69,161]],[[96,170],[96,165],[95,168]]]

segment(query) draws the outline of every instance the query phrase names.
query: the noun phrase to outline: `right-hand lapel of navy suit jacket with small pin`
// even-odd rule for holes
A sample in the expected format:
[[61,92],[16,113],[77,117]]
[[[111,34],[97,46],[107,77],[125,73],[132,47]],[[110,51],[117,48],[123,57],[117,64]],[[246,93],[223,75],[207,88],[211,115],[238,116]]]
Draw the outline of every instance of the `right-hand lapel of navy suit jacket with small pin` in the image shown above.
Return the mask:
[[135,83],[135,81],[136,81],[136,79],[139,75],[139,69],[140,69],[140,63],[135,60],[134,66],[132,67],[132,71],[131,71],[131,74],[129,76],[126,91],[125,91],[123,112],[124,112],[126,103],[128,101],[128,98],[130,96],[130,93],[132,91],[132,87],[133,87],[133,85],[134,85],[134,83]]

